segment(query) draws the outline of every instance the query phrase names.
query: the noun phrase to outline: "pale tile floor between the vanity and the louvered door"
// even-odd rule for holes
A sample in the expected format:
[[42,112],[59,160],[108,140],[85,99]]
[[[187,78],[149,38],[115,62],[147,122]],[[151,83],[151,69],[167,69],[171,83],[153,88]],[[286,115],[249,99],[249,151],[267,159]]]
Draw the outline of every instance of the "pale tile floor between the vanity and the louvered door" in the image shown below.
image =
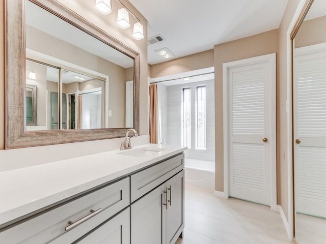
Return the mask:
[[291,244],[269,207],[185,187],[185,229],[176,244]]

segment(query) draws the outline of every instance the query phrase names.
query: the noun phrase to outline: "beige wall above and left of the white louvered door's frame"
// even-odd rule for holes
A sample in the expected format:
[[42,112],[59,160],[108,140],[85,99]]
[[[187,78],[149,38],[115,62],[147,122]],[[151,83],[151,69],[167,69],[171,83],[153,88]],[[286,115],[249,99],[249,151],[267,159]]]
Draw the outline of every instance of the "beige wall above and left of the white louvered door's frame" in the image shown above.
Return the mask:
[[214,46],[215,70],[215,190],[223,186],[223,63],[275,53],[277,30]]

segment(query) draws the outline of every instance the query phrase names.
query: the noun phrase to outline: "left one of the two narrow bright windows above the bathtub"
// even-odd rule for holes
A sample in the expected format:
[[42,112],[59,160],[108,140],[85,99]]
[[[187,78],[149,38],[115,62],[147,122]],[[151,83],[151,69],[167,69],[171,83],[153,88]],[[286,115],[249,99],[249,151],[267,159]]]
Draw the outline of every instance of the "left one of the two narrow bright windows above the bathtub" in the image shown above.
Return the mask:
[[190,88],[182,89],[182,114],[181,114],[181,128],[182,128],[182,146],[191,148],[191,90]]

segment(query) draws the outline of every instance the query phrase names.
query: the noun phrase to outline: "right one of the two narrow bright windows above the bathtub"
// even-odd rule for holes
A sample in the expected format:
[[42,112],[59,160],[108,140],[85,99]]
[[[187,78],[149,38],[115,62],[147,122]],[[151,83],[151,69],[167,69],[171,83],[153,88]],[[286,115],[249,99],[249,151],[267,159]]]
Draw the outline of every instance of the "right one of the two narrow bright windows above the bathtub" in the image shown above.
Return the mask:
[[206,86],[196,89],[196,149],[206,149]]

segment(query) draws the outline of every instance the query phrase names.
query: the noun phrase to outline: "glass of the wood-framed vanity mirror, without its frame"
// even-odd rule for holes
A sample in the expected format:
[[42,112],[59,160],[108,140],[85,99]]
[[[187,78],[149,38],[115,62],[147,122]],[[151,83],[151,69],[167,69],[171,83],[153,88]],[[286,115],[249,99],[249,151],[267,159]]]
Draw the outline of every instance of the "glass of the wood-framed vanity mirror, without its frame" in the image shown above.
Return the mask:
[[25,43],[27,131],[133,127],[131,57],[27,0]]

